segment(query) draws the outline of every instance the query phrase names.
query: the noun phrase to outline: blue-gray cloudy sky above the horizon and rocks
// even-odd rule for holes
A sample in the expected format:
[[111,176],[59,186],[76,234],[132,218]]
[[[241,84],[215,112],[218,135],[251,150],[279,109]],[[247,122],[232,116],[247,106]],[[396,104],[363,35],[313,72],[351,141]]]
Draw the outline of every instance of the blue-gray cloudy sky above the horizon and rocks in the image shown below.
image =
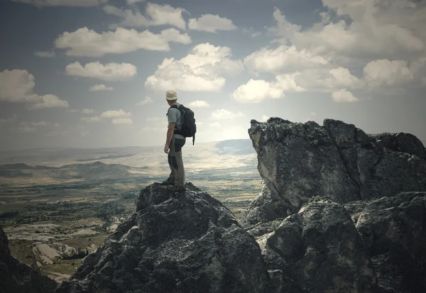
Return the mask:
[[0,150],[196,143],[325,118],[426,142],[426,1],[0,0]]

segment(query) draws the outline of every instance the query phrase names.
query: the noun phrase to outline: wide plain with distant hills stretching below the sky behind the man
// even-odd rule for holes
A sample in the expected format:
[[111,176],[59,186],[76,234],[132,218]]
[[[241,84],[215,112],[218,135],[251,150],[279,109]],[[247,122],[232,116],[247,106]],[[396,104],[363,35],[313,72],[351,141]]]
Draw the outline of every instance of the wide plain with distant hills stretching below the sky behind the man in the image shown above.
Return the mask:
[[[261,192],[251,140],[183,148],[186,181],[240,219]],[[0,153],[0,225],[11,254],[62,282],[170,172],[162,147],[46,148]]]

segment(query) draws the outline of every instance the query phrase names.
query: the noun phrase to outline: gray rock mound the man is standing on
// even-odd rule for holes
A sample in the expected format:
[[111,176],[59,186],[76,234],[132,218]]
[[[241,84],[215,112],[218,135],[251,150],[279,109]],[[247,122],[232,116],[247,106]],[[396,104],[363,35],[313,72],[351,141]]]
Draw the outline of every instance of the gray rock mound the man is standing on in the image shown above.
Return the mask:
[[219,201],[187,188],[143,189],[136,213],[56,292],[268,292],[254,238]]

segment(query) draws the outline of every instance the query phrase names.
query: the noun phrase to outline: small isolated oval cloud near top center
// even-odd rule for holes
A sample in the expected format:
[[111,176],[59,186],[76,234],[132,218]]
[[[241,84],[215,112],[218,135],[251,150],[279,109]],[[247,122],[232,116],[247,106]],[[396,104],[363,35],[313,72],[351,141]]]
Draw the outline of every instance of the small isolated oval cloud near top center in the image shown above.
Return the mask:
[[207,31],[209,33],[236,30],[236,26],[230,19],[213,14],[203,14],[200,18],[191,18],[188,21],[188,28],[193,31]]

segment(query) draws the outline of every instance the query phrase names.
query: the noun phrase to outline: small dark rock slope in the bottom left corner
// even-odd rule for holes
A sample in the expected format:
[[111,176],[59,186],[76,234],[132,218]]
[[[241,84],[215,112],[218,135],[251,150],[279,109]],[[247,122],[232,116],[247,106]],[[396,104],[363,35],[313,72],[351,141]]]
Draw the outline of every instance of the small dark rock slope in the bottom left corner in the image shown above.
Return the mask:
[[0,292],[49,293],[55,291],[56,285],[55,281],[11,256],[9,241],[0,227]]

